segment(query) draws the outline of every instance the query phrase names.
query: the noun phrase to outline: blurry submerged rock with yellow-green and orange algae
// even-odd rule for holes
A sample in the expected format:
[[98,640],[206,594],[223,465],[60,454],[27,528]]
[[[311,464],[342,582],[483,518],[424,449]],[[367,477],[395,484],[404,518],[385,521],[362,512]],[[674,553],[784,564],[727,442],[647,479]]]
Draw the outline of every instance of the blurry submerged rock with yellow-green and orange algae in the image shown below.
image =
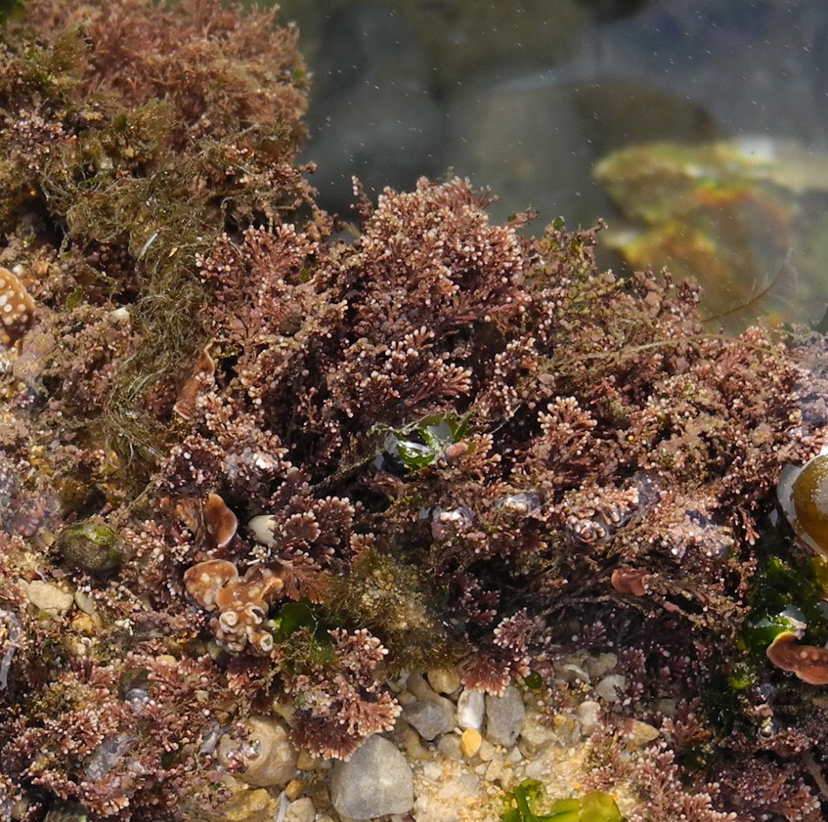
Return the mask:
[[828,296],[825,154],[768,137],[656,142],[614,151],[595,175],[628,221],[609,244],[632,268],[700,281],[708,314],[729,317],[744,304],[744,317],[802,320],[794,297]]

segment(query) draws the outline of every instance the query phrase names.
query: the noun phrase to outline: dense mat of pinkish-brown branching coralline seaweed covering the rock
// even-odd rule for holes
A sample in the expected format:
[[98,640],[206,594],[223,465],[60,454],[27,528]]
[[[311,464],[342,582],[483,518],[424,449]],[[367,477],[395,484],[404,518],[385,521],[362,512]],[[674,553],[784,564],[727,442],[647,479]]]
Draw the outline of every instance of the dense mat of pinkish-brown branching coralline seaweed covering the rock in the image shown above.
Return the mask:
[[485,692],[589,738],[572,818],[819,819],[826,576],[775,489],[824,337],[711,333],[464,180],[357,184],[337,238],[306,94],[296,32],[213,0],[0,30],[3,817],[334,817],[374,733],[520,796]]

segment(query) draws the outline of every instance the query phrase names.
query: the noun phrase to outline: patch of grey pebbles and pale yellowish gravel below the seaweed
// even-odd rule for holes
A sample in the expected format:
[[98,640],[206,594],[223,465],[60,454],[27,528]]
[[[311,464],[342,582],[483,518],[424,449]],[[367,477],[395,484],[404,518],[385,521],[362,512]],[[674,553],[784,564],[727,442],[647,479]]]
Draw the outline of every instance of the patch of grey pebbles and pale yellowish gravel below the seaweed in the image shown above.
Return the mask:
[[[253,789],[228,777],[233,798],[225,820],[347,822],[497,822],[510,791],[541,781],[551,800],[584,792],[592,743],[604,709],[619,698],[623,677],[614,654],[570,661],[562,671],[584,699],[571,713],[544,709],[536,693],[509,685],[501,696],[465,690],[454,669],[412,674],[397,683],[402,715],[392,733],[375,734],[348,762],[299,752],[296,775]],[[561,680],[565,685],[565,680]],[[659,735],[630,721],[633,750]],[[622,814],[636,800],[613,796]]]

